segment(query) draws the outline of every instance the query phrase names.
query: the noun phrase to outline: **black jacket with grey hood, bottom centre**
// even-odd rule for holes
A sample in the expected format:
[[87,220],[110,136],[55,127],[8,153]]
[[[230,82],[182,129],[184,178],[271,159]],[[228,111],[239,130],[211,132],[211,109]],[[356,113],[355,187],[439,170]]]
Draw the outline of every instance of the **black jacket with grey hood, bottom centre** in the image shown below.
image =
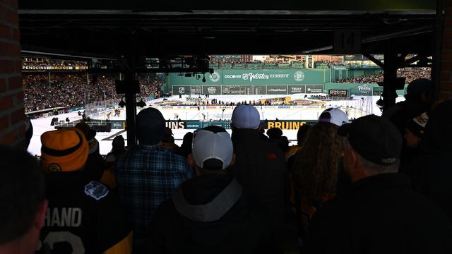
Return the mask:
[[274,253],[269,218],[232,176],[198,176],[158,207],[148,253]]

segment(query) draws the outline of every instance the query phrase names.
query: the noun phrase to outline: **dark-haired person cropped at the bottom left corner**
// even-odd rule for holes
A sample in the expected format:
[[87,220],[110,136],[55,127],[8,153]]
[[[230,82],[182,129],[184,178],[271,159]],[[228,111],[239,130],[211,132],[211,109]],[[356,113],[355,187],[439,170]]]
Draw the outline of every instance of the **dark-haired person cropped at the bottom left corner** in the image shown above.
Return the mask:
[[0,253],[35,253],[47,210],[43,172],[32,155],[4,145],[0,169]]

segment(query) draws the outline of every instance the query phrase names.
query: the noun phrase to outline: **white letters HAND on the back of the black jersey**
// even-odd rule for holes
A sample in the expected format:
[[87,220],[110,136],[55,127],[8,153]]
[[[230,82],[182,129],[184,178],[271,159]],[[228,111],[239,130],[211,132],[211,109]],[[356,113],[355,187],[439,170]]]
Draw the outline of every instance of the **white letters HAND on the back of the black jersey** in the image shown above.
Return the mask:
[[80,226],[82,210],[80,208],[47,208],[44,220],[45,226]]

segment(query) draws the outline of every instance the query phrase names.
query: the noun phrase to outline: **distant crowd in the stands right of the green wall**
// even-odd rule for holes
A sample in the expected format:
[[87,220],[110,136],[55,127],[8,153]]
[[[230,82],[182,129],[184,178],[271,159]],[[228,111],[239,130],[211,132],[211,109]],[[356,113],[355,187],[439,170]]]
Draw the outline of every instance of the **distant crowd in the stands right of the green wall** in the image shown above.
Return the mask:
[[[405,77],[405,83],[411,83],[412,80],[418,78],[430,78],[431,68],[402,68],[397,70],[397,76]],[[371,83],[375,84],[377,82],[383,81],[383,73],[373,73],[371,75],[362,75],[353,78],[344,78],[342,80],[336,81],[336,83]]]

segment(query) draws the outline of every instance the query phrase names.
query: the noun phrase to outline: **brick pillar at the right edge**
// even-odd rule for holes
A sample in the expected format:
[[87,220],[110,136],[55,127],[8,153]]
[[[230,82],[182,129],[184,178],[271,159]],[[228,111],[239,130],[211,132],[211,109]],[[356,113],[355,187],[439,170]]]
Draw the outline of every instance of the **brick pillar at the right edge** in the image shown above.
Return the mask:
[[452,0],[444,0],[444,10],[439,99],[452,99]]

